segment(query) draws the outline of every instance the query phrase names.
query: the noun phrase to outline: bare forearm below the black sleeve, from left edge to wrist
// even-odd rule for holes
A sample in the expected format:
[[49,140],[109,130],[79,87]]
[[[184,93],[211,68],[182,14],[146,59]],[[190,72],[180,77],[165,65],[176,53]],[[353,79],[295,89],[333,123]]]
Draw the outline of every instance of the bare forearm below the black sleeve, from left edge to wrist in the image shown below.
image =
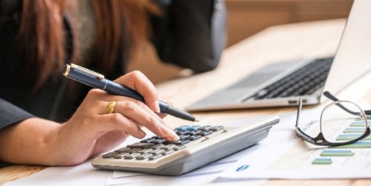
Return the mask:
[[29,118],[0,130],[0,159],[35,165],[59,165],[55,159],[56,133],[61,125]]

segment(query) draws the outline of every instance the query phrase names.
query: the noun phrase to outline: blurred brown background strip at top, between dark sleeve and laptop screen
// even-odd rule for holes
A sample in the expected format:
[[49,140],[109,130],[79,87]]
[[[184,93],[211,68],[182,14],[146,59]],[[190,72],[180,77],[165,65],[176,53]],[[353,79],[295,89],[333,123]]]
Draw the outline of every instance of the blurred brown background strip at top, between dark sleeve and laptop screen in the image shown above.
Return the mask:
[[353,0],[225,0],[228,46],[269,26],[346,18]]

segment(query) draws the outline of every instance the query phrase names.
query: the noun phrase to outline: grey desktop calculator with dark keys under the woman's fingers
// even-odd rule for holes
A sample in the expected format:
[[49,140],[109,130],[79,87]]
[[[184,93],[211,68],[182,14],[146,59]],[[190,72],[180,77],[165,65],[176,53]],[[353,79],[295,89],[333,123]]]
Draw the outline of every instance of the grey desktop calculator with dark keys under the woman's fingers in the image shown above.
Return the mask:
[[95,157],[91,164],[105,170],[183,175],[260,142],[279,121],[272,115],[243,127],[183,125],[174,129],[181,138],[178,141],[155,135]]

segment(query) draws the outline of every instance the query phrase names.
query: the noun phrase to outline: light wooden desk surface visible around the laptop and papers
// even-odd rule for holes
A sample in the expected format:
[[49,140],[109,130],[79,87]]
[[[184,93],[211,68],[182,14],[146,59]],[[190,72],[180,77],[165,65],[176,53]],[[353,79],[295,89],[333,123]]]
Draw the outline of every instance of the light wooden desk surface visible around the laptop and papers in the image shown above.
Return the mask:
[[[175,80],[156,85],[158,95],[161,100],[171,101],[176,107],[184,108],[267,63],[334,55],[344,26],[345,19],[337,19],[270,27],[227,48],[220,66],[214,71],[193,76],[184,73]],[[198,112],[194,115],[203,124],[208,124],[249,116],[270,115],[290,109],[295,108],[223,110]],[[173,125],[189,124],[173,117],[167,117],[166,122]],[[24,165],[5,167],[0,169],[0,184],[32,175],[43,169],[44,167]],[[371,185],[371,180],[269,180],[265,183],[265,185],[286,184]]]

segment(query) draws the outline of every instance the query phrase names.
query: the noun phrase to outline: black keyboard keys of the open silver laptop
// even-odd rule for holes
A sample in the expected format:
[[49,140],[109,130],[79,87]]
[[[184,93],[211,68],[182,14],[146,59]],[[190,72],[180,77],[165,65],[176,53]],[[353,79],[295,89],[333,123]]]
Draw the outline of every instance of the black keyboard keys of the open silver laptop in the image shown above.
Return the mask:
[[285,78],[263,88],[250,98],[267,99],[297,95],[310,95],[322,88],[333,61],[331,58],[317,58],[312,63],[299,68]]

